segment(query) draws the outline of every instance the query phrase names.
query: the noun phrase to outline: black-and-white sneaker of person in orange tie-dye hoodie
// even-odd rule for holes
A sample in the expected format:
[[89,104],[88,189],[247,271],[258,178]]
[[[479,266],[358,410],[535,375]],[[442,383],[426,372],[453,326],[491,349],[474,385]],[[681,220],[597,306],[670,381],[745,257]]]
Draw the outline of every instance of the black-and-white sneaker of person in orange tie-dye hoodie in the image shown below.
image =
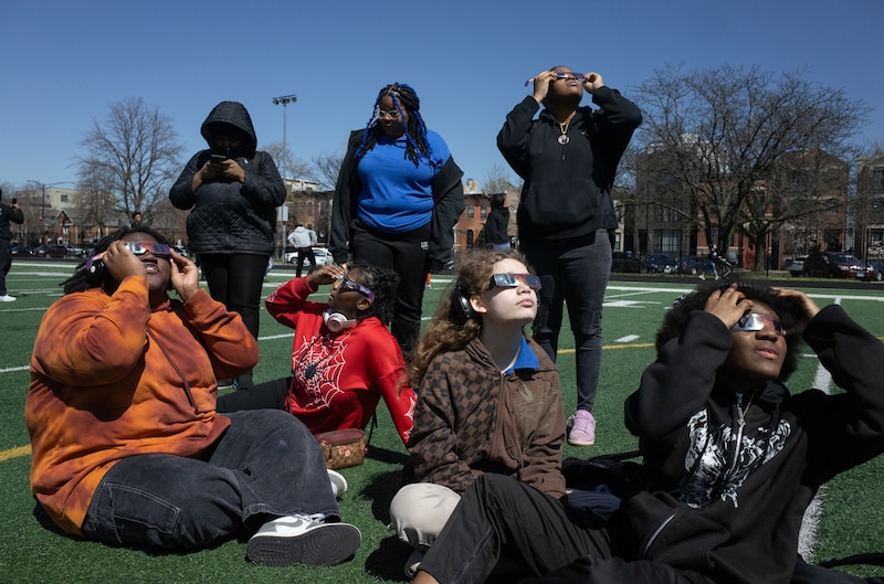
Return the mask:
[[362,535],[349,523],[322,523],[288,516],[264,523],[246,546],[262,565],[335,565],[356,553]]

